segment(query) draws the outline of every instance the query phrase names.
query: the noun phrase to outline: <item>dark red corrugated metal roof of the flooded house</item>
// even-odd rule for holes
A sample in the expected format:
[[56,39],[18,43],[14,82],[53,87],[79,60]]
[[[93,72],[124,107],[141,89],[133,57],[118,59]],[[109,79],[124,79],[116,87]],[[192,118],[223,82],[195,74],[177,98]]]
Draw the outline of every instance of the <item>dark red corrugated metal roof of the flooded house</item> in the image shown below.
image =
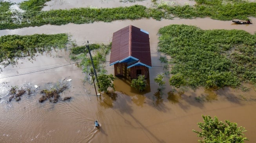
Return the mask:
[[113,34],[110,64],[132,56],[143,64],[151,66],[149,34],[129,25]]

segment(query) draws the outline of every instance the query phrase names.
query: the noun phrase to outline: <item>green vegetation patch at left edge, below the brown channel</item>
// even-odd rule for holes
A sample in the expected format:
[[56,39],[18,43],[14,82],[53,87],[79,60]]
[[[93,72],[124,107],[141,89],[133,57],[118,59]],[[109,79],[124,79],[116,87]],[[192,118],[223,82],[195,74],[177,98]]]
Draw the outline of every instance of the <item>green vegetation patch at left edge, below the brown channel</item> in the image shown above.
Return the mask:
[[66,48],[67,34],[34,34],[30,36],[7,35],[0,37],[0,64],[16,64],[17,58],[43,54],[52,48]]

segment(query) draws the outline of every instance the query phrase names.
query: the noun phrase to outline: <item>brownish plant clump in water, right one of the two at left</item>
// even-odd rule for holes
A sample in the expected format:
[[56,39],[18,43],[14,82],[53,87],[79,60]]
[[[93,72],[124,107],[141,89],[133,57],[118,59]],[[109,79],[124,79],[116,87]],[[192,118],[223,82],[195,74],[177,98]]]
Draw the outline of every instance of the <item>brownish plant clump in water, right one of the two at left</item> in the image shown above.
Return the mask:
[[[61,86],[57,86],[56,88],[51,89],[43,89],[40,93],[44,94],[38,100],[40,103],[44,102],[45,100],[49,99],[50,102],[56,103],[60,99],[60,93],[62,93],[65,89],[67,89],[67,84],[62,84]],[[65,97],[63,101],[70,100],[71,97]]]

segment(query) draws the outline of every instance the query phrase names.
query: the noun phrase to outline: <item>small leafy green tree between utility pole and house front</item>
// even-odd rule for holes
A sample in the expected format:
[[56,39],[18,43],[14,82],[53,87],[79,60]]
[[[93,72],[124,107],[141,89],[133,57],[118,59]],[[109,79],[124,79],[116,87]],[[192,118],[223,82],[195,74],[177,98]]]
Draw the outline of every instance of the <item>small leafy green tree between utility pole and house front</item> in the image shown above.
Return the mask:
[[99,91],[104,91],[107,93],[108,88],[112,88],[114,90],[114,84],[112,81],[114,81],[114,76],[112,74],[106,75],[106,74],[100,74],[98,75],[99,82],[97,83],[99,88]]

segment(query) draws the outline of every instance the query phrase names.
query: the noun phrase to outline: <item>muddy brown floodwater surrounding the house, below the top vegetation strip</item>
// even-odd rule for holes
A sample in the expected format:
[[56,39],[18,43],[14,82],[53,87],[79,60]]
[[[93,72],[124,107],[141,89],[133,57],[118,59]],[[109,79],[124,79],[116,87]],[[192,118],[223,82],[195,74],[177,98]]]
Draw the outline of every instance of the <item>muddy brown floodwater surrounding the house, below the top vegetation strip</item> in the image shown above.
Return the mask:
[[[52,1],[53,2],[53,1]],[[58,2],[58,1],[57,1]],[[101,5],[98,4],[100,7]],[[256,18],[251,18],[252,22]],[[236,25],[231,21],[204,19],[175,19],[156,21],[153,19],[96,22],[91,24],[67,24],[61,26],[44,25],[14,30],[0,30],[0,36],[8,34],[56,34],[68,33],[78,45],[90,43],[109,43],[113,32],[128,25],[134,25],[149,32],[151,59],[153,66],[160,63],[157,52],[158,29],[170,24],[196,25],[201,29],[240,29],[253,34],[256,26]],[[172,93],[166,80],[163,95],[157,92],[154,77],[163,68],[149,70],[149,87],[142,93],[130,86],[130,80],[114,80],[116,94],[96,96],[94,86],[84,84],[85,74],[71,64],[69,52],[53,51],[38,55],[35,60],[19,59],[16,66],[7,66],[0,73],[0,142],[91,142],[91,143],[158,143],[178,142],[197,143],[200,139],[192,129],[199,130],[197,122],[202,115],[218,116],[219,120],[230,120],[247,130],[250,143],[256,142],[256,91],[245,84],[247,91],[223,88],[217,91],[198,88],[195,91],[181,88]],[[109,55],[107,55],[109,60]],[[70,64],[64,66],[66,64]],[[59,68],[53,68],[61,66]],[[44,70],[53,68],[51,70]],[[114,73],[113,66],[106,63],[108,73]],[[31,71],[44,70],[14,76]],[[6,76],[13,76],[3,78]],[[68,79],[72,79],[67,82]],[[72,97],[70,102],[56,104],[46,101],[39,103],[40,90],[50,88],[62,81],[69,85],[61,97]],[[24,95],[19,102],[7,102],[7,90],[11,86],[31,85],[33,94]],[[38,89],[34,85],[39,86]],[[85,91],[87,90],[87,92]],[[98,120],[101,127],[94,127]]]

